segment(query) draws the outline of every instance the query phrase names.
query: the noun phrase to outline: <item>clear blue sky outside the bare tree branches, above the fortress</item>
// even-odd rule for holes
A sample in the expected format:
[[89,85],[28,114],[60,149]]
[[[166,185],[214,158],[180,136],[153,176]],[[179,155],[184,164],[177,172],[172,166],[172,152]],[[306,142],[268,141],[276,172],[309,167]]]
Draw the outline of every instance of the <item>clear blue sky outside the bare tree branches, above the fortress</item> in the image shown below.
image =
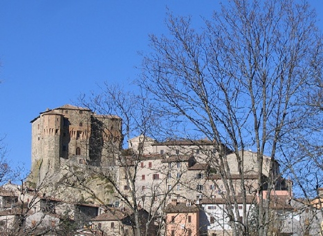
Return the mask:
[[[148,34],[167,33],[166,7],[197,27],[220,0],[1,0],[0,137],[13,166],[30,168],[31,124],[107,81],[129,86]],[[323,1],[309,0],[323,30]],[[202,25],[201,25],[202,26]]]

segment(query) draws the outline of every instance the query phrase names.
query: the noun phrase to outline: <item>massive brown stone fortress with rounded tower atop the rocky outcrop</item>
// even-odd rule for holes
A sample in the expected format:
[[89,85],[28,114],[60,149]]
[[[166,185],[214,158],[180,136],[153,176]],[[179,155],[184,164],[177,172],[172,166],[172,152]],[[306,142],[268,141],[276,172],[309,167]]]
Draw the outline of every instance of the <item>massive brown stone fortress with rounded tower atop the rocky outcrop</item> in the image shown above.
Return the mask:
[[98,115],[84,107],[64,105],[41,112],[31,121],[33,181],[39,185],[66,163],[114,165],[122,145],[121,125],[118,116]]

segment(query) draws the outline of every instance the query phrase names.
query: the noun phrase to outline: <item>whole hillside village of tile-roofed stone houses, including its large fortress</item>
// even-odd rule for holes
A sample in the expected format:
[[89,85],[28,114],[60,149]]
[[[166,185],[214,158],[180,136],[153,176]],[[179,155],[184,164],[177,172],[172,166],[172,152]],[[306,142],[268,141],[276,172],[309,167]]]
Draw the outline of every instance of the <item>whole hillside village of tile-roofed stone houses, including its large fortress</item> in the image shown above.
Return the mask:
[[229,236],[256,227],[260,202],[270,235],[320,235],[323,198],[295,199],[268,156],[259,177],[256,153],[208,139],[139,135],[122,149],[119,117],[71,105],[41,112],[31,127],[31,174],[0,189],[1,235]]

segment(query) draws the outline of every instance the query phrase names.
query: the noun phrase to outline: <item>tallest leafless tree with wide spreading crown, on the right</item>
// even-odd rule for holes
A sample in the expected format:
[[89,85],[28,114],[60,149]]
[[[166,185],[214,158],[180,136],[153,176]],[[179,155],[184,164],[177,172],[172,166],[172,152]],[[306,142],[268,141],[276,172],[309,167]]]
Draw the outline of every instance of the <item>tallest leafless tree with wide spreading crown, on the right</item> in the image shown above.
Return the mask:
[[[241,150],[256,152],[257,231],[267,235],[270,194],[279,177],[275,163],[290,148],[286,141],[313,116],[303,98],[321,78],[322,39],[315,13],[306,2],[294,0],[231,0],[205,21],[204,30],[194,30],[190,22],[169,14],[169,36],[150,36],[152,53],[144,57],[138,85],[169,121],[186,123],[213,141],[218,157],[209,161],[219,167],[230,205],[237,204],[239,194],[247,195]],[[238,193],[225,147],[238,163]],[[265,185],[264,155],[270,157]],[[263,190],[268,190],[265,195]],[[231,221],[233,234],[248,235],[248,225],[244,211],[241,224]]]

